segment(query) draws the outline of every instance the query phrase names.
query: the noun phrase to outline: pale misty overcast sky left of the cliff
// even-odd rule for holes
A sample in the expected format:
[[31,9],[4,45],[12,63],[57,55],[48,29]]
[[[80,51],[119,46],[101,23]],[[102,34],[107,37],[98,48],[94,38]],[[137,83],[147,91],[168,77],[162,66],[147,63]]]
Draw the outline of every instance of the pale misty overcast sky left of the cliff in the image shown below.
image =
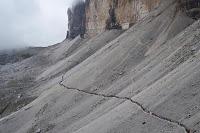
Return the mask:
[[0,0],[0,49],[61,42],[71,1]]

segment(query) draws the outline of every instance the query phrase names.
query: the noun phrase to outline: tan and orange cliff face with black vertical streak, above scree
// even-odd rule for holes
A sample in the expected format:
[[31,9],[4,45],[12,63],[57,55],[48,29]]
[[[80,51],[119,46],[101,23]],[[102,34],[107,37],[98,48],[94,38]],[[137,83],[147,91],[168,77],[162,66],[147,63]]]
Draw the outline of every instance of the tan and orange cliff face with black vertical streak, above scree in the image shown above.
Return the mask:
[[160,0],[86,0],[86,30],[90,35],[132,25],[157,7]]

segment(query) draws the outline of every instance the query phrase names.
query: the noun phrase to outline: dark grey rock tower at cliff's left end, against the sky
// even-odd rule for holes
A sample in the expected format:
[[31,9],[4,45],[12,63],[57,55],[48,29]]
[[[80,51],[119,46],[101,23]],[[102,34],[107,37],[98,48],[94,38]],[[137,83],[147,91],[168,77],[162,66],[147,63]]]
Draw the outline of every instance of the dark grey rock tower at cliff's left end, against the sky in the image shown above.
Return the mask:
[[78,2],[72,9],[68,9],[67,38],[75,38],[85,33],[85,3]]

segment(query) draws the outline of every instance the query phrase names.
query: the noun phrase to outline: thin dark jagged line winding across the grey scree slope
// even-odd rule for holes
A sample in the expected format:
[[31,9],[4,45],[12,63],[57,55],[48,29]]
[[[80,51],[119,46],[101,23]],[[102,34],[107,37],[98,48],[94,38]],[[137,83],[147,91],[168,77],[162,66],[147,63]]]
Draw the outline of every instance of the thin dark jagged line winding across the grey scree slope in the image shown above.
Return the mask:
[[78,89],[78,88],[72,88],[72,87],[68,87],[66,85],[63,84],[63,81],[64,81],[64,76],[62,76],[62,80],[59,82],[59,85],[68,89],[68,90],[75,90],[75,91],[78,91],[78,92],[81,92],[81,93],[85,93],[85,94],[90,94],[90,95],[95,95],[95,96],[99,96],[99,97],[104,97],[104,98],[116,98],[116,99],[120,99],[120,100],[127,100],[127,101],[130,101],[131,103],[137,105],[139,108],[141,108],[141,110],[146,113],[146,114],[149,114],[157,119],[160,119],[162,121],[166,121],[166,122],[169,122],[169,123],[173,123],[175,125],[178,125],[180,126],[181,128],[183,128],[185,130],[186,133],[193,133],[191,129],[189,129],[186,125],[182,124],[181,122],[179,121],[176,121],[176,120],[172,120],[170,118],[167,118],[167,117],[164,117],[164,116],[161,116],[161,115],[158,115],[154,112],[151,112],[150,110],[146,109],[142,104],[140,104],[139,102],[137,101],[134,101],[133,99],[129,98],[129,97],[120,97],[120,96],[115,96],[115,95],[107,95],[107,94],[99,94],[99,93],[95,93],[95,92],[90,92],[90,91],[86,91],[86,90],[81,90],[81,89]]

